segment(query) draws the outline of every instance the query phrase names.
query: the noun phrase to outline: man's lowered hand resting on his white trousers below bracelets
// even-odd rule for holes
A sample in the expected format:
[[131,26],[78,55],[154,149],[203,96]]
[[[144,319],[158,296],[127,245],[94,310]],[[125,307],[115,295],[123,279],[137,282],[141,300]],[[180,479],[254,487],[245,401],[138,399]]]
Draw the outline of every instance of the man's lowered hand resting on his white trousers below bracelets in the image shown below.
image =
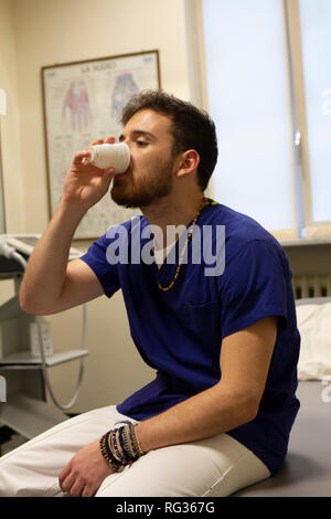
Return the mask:
[[81,448],[58,476],[60,487],[72,497],[93,497],[114,472],[103,457],[99,441]]

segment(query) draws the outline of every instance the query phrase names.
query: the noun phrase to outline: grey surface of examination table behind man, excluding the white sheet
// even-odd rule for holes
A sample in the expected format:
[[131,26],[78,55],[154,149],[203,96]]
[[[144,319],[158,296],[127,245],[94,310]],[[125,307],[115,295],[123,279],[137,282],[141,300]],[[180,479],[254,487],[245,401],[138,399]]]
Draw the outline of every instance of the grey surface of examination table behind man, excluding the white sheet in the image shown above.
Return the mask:
[[300,381],[297,395],[301,407],[282,469],[234,496],[331,497],[331,381],[329,390],[320,380]]

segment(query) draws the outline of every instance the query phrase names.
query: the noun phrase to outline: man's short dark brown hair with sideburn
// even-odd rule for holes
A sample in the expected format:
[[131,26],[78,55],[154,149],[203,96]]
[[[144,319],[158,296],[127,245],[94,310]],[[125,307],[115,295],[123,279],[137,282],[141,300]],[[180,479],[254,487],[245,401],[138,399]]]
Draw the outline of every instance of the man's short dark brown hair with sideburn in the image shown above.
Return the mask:
[[215,125],[209,115],[191,103],[178,99],[162,91],[143,91],[131,97],[121,115],[121,124],[139,110],[152,109],[171,119],[173,153],[194,149],[200,155],[197,184],[202,191],[207,187],[217,161]]

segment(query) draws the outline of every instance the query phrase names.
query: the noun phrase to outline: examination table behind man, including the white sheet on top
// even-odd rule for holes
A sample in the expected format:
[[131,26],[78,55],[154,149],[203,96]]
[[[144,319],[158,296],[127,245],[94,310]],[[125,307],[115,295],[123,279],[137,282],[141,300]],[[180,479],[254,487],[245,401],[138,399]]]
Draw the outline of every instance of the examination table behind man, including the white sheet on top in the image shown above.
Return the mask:
[[295,421],[284,468],[235,496],[331,497],[331,297],[296,300],[301,336]]

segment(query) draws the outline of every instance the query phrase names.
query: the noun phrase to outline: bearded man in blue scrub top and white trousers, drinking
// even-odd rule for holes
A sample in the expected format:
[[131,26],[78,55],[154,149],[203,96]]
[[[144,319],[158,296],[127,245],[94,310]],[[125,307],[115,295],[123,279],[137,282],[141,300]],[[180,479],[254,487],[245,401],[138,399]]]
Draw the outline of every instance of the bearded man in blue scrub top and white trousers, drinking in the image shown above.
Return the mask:
[[[274,474],[287,453],[300,341],[287,258],[254,220],[204,199],[217,158],[207,115],[145,92],[122,123],[131,159],[111,197],[143,215],[67,264],[81,219],[114,177],[77,152],[29,261],[21,306],[47,315],[121,288],[132,339],[157,378],[4,456],[2,495],[228,496]],[[173,226],[185,231],[169,243]],[[152,241],[150,229],[160,230]],[[221,264],[207,271],[211,257]]]

